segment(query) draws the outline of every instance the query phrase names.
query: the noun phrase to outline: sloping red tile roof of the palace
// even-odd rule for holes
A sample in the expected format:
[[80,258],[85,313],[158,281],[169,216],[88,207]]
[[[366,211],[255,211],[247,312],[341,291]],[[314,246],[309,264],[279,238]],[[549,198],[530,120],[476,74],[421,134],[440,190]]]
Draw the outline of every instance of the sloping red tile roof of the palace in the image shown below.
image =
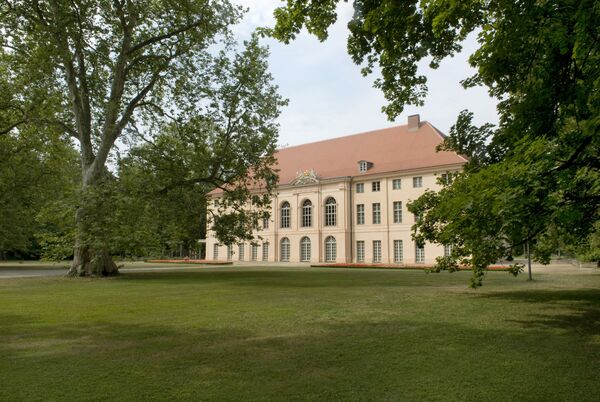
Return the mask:
[[[282,148],[275,155],[279,184],[289,184],[299,171],[310,169],[319,179],[330,179],[465,163],[454,152],[435,151],[443,139],[435,127],[421,122],[415,131],[403,125]],[[358,171],[361,160],[373,163],[362,174]]]

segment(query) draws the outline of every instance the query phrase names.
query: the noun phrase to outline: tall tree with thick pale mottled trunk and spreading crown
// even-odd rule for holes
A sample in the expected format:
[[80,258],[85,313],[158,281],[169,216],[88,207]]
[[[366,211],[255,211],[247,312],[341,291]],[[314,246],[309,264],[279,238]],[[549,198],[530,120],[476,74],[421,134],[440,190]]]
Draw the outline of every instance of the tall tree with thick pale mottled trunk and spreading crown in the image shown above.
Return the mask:
[[[242,77],[258,78],[262,86],[228,76],[238,86],[225,99],[215,99],[210,85],[201,86],[210,81],[208,70],[228,73],[218,69],[228,59],[214,57],[215,46],[230,50],[228,27],[240,16],[241,9],[226,0],[0,4],[0,133],[33,125],[57,127],[79,145],[82,179],[72,275],[117,273],[107,244],[111,230],[104,226],[110,223],[103,214],[103,197],[110,194],[104,184],[112,180],[107,162],[115,144],[129,132],[156,133],[166,121],[194,122],[195,129],[230,139],[242,132],[252,154],[240,158],[249,162],[243,168],[256,170],[257,180],[270,177],[264,162],[269,161],[269,147],[253,144],[275,143],[273,114],[262,118],[262,110],[253,109],[253,98],[235,97],[248,88],[272,94],[268,74],[262,69],[259,77]],[[259,47],[251,44],[247,49]],[[263,66],[264,55],[254,62]],[[280,104],[276,98],[271,106],[275,114]],[[211,114],[218,106],[230,107],[220,110],[226,119]],[[197,112],[204,112],[203,117]],[[247,131],[240,129],[245,119],[253,123]],[[223,186],[223,179],[235,179],[223,174],[218,160],[213,162],[207,182]]]

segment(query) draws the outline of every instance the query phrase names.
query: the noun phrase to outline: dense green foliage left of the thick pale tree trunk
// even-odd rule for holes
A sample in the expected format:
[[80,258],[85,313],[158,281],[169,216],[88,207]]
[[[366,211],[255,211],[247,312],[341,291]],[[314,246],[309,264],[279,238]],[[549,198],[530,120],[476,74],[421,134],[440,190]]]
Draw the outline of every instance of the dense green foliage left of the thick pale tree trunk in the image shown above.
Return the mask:
[[[45,256],[62,241],[65,208],[79,179],[77,154],[70,141],[49,130],[24,130],[0,136],[0,252]],[[51,239],[54,240],[51,240]],[[67,256],[72,255],[71,250]]]

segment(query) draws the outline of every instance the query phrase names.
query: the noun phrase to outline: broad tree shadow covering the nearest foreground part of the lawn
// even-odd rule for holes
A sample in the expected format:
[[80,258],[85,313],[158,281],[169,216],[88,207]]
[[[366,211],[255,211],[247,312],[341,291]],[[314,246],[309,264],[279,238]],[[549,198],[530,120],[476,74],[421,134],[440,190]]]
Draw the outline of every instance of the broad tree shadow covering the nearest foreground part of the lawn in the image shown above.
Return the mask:
[[[300,324],[267,334],[235,323],[61,322],[31,327],[18,339],[0,336],[0,372],[10,373],[0,397],[498,400],[520,394],[593,400],[600,393],[597,346],[530,338],[410,320]],[[565,369],[580,362],[586,363]],[[69,376],[75,379],[65,383]]]

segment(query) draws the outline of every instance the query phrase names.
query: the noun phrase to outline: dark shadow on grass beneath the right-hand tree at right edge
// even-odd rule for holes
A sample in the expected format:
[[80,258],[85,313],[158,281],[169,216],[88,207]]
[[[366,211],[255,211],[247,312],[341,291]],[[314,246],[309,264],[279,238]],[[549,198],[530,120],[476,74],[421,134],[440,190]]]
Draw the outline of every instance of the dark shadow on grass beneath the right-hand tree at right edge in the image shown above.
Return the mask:
[[[600,335],[600,289],[522,290],[493,292],[480,297],[539,305],[544,314],[538,314],[531,320],[512,320],[526,327],[558,328],[586,336]],[[563,313],[565,309],[567,313]]]

